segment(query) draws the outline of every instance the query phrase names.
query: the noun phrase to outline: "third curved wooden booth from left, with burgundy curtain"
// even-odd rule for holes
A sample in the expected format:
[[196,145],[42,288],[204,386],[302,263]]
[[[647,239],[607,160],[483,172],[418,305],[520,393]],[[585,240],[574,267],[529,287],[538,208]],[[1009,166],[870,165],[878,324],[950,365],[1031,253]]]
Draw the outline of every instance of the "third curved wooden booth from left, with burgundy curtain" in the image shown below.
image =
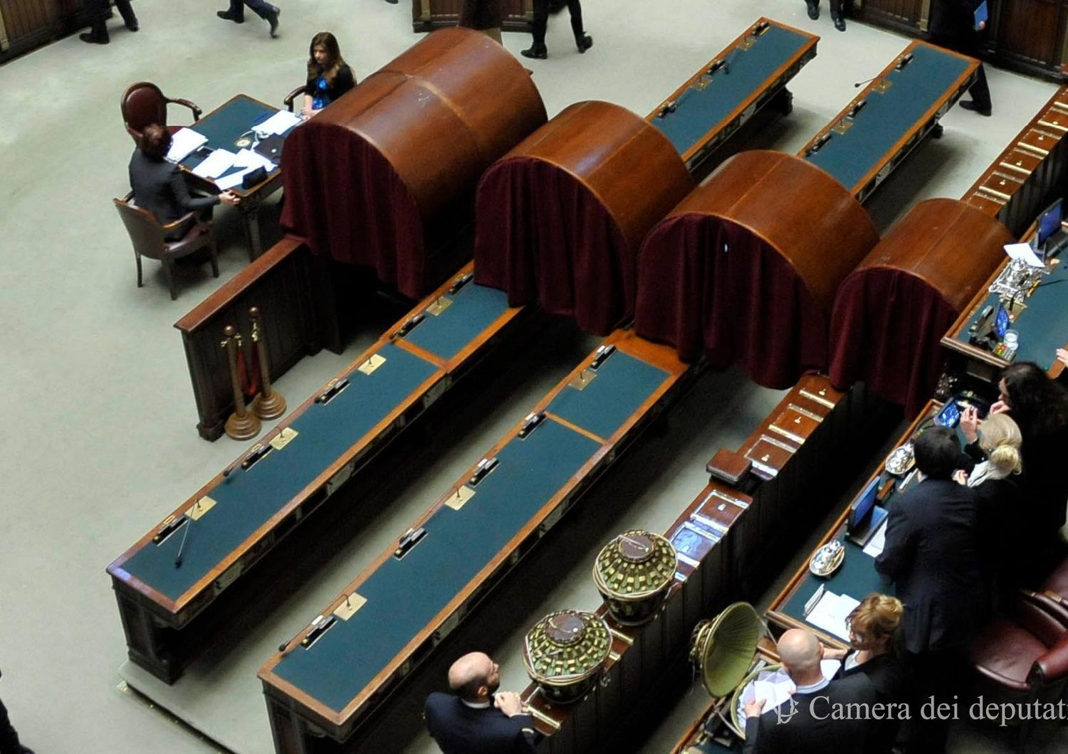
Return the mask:
[[837,288],[878,240],[864,208],[823,171],[782,153],[741,153],[649,234],[635,328],[687,360],[704,352],[788,387],[826,368]]

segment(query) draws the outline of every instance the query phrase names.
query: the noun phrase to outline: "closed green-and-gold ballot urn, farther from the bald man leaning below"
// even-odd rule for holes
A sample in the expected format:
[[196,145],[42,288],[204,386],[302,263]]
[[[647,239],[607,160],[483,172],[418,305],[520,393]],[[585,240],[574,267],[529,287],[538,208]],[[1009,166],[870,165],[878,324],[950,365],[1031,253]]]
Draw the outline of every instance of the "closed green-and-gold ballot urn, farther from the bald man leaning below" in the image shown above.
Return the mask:
[[594,562],[594,582],[612,617],[635,626],[660,609],[675,578],[675,548],[659,534],[624,532],[604,545]]

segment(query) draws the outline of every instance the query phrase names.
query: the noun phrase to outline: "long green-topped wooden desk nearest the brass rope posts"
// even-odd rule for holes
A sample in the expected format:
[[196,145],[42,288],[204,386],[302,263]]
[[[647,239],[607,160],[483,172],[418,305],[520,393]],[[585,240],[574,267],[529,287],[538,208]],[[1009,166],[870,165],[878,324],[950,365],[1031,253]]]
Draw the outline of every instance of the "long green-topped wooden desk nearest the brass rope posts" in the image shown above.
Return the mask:
[[522,309],[471,282],[470,264],[460,273],[431,295],[437,315],[414,309],[256,447],[286,429],[288,445],[235,461],[108,566],[131,660],[173,683],[203,647],[201,613],[518,325]]

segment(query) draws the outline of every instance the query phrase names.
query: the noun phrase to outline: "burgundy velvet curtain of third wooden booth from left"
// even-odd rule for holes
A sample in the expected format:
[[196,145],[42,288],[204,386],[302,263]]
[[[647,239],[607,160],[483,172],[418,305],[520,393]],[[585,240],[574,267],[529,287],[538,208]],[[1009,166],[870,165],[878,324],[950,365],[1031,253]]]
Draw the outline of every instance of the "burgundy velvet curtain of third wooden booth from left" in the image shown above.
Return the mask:
[[827,366],[826,316],[794,267],[747,228],[671,216],[642,244],[638,275],[635,332],[686,362],[704,353],[774,389]]

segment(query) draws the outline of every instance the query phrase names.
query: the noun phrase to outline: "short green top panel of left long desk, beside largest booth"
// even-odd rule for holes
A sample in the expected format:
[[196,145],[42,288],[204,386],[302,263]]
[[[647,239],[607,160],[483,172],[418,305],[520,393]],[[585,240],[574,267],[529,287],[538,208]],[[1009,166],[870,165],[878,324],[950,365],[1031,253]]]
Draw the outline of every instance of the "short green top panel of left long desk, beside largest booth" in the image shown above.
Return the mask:
[[426,312],[405,340],[444,360],[454,358],[508,309],[507,293],[474,280],[443,298],[452,302],[449,307],[437,316]]

